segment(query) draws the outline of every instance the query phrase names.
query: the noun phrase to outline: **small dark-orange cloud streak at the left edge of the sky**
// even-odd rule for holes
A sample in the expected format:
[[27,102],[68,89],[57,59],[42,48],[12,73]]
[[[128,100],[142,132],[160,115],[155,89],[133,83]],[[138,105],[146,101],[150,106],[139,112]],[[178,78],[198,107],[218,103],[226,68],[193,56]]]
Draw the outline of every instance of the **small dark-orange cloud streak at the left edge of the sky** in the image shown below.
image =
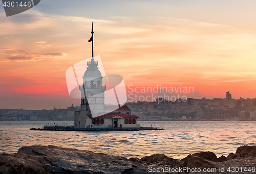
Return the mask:
[[1,48],[0,62],[28,62],[39,61],[49,58],[61,58],[66,57],[66,53],[27,53],[15,48]]

